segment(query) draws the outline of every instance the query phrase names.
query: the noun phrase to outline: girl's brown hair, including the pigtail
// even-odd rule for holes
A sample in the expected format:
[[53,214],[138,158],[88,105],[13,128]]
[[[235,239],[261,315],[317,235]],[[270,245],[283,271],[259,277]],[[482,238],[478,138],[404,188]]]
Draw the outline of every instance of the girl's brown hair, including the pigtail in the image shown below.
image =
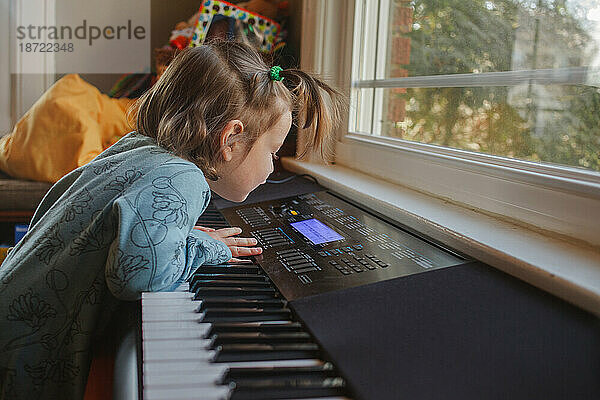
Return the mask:
[[250,150],[286,111],[305,131],[304,153],[328,156],[328,138],[340,120],[340,93],[299,69],[269,77],[269,67],[252,47],[214,41],[181,51],[154,86],[132,108],[138,133],[195,163],[208,179],[218,179],[219,134],[233,119],[244,124]]

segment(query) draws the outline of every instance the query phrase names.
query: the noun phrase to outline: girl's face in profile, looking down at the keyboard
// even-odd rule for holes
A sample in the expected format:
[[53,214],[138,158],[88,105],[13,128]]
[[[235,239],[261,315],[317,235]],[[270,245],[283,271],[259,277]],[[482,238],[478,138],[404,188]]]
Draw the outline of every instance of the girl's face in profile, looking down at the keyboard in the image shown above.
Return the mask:
[[292,113],[288,111],[256,140],[247,155],[243,143],[226,148],[225,162],[217,167],[219,180],[208,181],[210,188],[227,200],[244,201],[273,172],[275,153],[283,145],[291,125]]

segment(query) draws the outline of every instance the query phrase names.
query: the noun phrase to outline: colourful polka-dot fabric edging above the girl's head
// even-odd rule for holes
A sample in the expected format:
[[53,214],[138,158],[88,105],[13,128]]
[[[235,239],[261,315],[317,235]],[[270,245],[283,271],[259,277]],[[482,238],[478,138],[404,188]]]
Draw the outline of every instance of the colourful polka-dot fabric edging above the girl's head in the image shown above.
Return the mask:
[[230,19],[230,34],[233,37],[243,37],[264,52],[271,52],[278,47],[281,26],[277,22],[222,0],[206,0],[202,3],[190,47],[204,43],[211,23],[219,16]]

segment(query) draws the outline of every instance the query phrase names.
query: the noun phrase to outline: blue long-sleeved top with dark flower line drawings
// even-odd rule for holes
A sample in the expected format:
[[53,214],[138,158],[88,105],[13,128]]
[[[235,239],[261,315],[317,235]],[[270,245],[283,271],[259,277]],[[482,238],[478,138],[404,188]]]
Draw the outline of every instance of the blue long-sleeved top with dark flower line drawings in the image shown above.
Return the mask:
[[0,266],[0,399],[81,399],[101,315],[231,258],[202,171],[132,132],[58,181]]

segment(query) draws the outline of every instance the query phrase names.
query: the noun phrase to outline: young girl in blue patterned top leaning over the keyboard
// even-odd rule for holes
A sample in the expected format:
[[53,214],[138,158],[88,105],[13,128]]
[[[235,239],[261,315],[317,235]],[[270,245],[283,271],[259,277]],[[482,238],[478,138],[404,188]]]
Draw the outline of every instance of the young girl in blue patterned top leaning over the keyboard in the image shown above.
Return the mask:
[[0,266],[0,398],[82,398],[91,335],[119,300],[259,254],[239,228],[194,226],[210,191],[239,202],[264,183],[293,115],[323,149],[338,98],[243,44],[181,52],[139,99],[137,131],[57,182]]

